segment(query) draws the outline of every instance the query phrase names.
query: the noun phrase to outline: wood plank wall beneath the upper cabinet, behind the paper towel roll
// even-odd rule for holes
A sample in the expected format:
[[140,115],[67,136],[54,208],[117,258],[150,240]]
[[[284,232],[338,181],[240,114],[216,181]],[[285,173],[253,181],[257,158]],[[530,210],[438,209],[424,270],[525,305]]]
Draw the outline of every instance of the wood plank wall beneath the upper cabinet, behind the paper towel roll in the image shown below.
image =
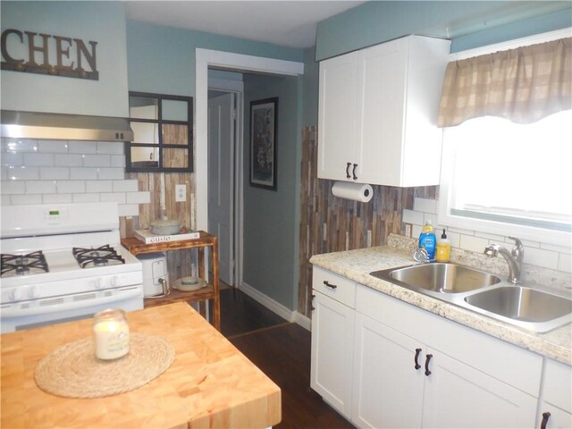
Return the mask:
[[404,234],[403,209],[413,199],[435,198],[437,187],[373,186],[374,197],[360,203],[332,195],[334,181],[317,179],[317,128],[302,129],[298,312],[311,317],[312,265],[321,253],[380,246],[390,233]]

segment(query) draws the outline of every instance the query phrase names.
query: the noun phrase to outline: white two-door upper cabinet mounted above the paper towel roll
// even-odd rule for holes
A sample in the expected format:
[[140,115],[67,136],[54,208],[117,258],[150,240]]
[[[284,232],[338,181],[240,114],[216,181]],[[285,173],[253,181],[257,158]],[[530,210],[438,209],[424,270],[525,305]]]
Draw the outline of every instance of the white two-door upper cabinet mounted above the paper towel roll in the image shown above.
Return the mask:
[[438,184],[449,49],[449,40],[408,36],[321,62],[318,178]]

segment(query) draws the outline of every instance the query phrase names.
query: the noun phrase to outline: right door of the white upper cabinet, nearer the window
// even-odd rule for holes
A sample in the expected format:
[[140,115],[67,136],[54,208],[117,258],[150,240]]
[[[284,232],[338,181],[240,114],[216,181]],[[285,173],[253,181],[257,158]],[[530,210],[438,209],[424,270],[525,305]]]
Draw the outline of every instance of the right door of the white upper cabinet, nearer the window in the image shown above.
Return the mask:
[[358,180],[400,186],[408,38],[361,52]]

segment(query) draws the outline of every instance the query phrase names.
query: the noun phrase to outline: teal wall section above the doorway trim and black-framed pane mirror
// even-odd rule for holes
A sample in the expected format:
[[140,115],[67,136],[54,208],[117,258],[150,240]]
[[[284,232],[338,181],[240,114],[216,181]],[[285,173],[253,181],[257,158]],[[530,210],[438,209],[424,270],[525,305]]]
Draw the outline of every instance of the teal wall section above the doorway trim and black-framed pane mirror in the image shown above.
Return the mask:
[[302,49],[127,21],[129,89],[193,97],[197,47],[288,61],[304,60]]

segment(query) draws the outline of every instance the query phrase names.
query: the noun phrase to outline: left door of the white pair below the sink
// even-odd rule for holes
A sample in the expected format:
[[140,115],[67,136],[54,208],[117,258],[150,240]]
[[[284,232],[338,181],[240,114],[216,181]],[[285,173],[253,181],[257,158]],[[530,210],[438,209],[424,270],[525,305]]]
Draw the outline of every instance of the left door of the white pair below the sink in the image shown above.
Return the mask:
[[359,427],[420,427],[425,345],[366,315],[356,315],[351,421]]

